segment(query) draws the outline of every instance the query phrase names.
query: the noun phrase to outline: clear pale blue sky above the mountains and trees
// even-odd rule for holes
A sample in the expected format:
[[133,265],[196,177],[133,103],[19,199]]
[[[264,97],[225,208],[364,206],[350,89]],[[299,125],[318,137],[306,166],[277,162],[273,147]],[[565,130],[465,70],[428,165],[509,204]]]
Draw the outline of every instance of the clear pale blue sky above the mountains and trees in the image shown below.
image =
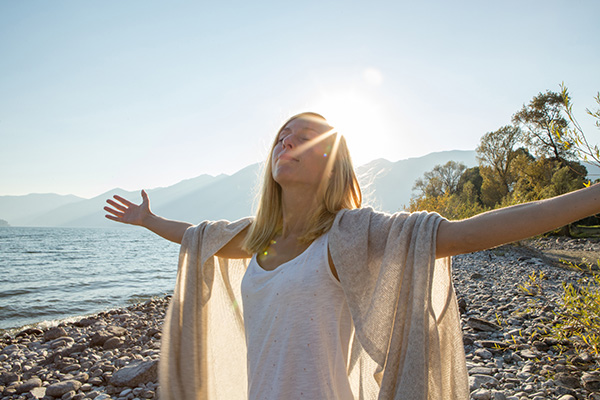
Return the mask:
[[0,195],[231,174],[306,110],[357,165],[475,149],[563,81],[597,143],[598,15],[597,0],[0,0]]

